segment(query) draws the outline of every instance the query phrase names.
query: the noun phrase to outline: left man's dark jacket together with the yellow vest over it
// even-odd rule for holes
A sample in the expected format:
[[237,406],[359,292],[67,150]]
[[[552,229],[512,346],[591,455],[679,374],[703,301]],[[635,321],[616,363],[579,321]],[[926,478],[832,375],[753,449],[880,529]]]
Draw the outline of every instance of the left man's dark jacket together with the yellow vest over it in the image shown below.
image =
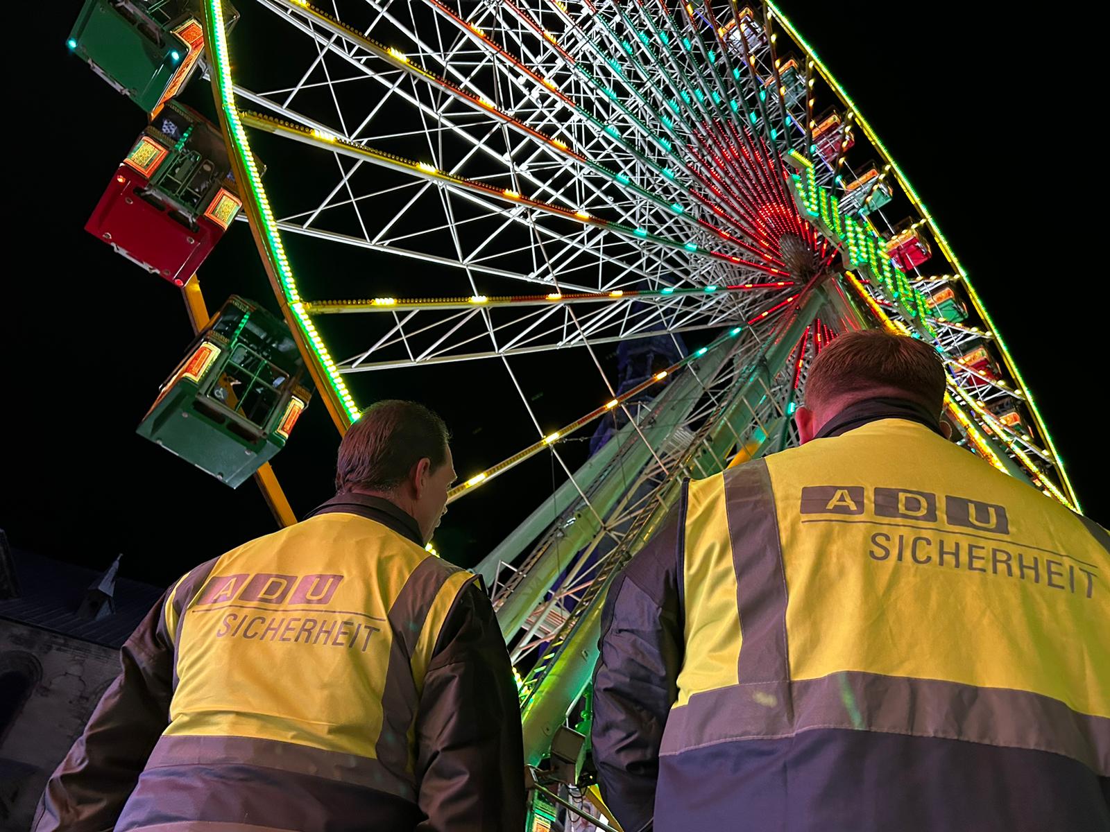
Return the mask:
[[339,495],[199,566],[121,658],[36,832],[523,828],[490,601],[386,500]]

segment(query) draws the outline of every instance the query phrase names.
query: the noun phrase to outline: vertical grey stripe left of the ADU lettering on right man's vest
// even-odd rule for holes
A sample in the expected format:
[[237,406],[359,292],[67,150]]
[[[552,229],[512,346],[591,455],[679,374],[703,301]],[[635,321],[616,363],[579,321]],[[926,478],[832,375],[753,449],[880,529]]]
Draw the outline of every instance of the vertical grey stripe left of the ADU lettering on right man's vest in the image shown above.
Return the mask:
[[729,468],[724,483],[740,616],[737,678],[748,683],[785,681],[790,678],[786,575],[767,463],[758,459]]

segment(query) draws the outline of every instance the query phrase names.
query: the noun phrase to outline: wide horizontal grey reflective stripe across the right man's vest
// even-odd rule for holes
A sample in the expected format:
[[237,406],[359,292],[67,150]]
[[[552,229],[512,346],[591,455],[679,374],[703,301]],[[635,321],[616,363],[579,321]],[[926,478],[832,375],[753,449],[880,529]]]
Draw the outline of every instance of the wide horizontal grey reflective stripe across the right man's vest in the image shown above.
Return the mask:
[[670,711],[659,753],[821,728],[1050,751],[1110,777],[1110,719],[1029,691],[856,671],[695,693]]

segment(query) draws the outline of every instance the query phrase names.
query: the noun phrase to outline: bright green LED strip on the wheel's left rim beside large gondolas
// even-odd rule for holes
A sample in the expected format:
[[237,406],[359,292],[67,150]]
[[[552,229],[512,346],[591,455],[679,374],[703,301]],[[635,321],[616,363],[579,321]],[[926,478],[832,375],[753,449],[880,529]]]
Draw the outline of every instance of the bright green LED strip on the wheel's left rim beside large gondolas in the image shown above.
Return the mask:
[[262,186],[262,177],[254,163],[254,154],[251,152],[250,142],[246,139],[246,131],[239,118],[239,109],[235,106],[234,94],[232,92],[231,80],[231,57],[228,51],[228,39],[223,28],[223,3],[221,0],[209,0],[208,16],[205,20],[205,34],[209,38],[211,49],[209,54],[215,65],[213,83],[219,91],[219,102],[226,119],[226,138],[231,152],[238,155],[242,169],[246,172],[246,182],[240,184],[244,191],[244,199],[250,199],[255,209],[255,215],[261,220],[263,232],[259,239],[264,242],[265,254],[274,272],[278,274],[285,303],[293,313],[304,336],[311,354],[316,358],[319,366],[323,369],[323,376],[331,386],[330,390],[324,390],[325,395],[331,394],[346,417],[346,423],[356,422],[360,416],[359,406],[355,404],[351,392],[343,382],[335,363],[324,346],[324,341],[316,332],[315,324],[309,317],[301,301],[301,295],[296,290],[296,281],[293,276],[293,267],[285,255],[285,247],[281,242],[281,234],[274,221],[273,212],[270,210],[270,202],[266,199],[265,190]]

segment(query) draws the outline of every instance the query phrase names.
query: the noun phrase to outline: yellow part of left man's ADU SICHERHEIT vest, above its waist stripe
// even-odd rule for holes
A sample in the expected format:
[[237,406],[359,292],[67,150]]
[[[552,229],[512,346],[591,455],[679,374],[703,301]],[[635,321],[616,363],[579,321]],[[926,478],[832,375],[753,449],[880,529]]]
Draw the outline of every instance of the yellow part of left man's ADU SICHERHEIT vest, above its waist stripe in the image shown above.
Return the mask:
[[[321,514],[232,549],[183,609],[174,595],[189,576],[165,603],[180,681],[160,745],[291,743],[282,753],[303,757],[299,769],[335,764],[351,779],[362,767],[354,780],[411,799],[424,672],[474,579],[353,514]],[[265,764],[274,747],[259,745]],[[235,758],[252,762],[242,747]]]

